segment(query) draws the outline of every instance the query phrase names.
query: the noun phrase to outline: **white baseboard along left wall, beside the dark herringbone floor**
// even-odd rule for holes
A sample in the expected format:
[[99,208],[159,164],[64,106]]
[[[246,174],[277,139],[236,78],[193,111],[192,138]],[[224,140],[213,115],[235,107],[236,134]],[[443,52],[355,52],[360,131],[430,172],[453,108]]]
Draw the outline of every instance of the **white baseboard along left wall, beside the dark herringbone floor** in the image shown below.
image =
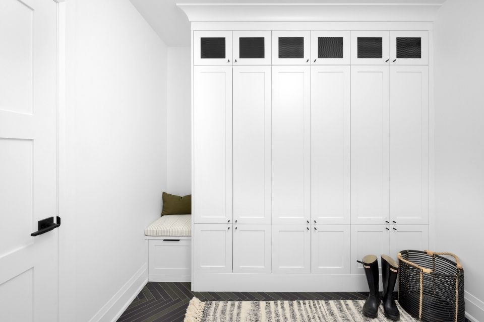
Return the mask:
[[144,264],[89,322],[115,322],[148,283],[148,264]]

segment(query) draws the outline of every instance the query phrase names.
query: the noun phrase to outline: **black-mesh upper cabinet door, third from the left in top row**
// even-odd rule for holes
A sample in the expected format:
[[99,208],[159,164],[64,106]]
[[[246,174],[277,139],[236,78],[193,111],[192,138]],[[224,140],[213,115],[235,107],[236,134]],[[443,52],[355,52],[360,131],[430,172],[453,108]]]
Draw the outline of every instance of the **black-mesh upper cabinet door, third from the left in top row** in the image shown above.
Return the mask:
[[273,31],[273,65],[310,65],[310,31]]

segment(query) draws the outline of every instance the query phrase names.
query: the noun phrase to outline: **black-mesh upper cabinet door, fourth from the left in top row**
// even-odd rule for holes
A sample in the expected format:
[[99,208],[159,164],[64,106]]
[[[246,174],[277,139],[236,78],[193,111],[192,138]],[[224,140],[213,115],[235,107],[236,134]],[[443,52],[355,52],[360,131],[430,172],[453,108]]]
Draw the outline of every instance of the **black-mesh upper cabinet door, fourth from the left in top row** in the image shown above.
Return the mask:
[[313,65],[349,65],[349,31],[312,31]]

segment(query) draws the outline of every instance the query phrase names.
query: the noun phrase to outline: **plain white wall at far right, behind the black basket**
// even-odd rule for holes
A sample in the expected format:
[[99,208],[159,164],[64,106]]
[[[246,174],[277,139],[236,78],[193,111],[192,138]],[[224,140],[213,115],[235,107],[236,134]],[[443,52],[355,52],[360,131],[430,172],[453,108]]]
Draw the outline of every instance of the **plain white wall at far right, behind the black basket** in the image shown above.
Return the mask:
[[436,246],[460,256],[466,311],[479,321],[484,321],[483,12],[482,1],[447,0],[434,39]]

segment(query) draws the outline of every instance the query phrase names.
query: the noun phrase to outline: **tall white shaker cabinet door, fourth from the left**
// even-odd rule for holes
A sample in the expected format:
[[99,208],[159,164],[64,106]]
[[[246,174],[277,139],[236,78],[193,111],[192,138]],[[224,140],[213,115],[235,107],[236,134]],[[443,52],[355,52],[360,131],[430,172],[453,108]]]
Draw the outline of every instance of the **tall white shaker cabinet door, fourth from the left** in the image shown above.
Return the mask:
[[311,67],[311,221],[349,224],[350,67]]

